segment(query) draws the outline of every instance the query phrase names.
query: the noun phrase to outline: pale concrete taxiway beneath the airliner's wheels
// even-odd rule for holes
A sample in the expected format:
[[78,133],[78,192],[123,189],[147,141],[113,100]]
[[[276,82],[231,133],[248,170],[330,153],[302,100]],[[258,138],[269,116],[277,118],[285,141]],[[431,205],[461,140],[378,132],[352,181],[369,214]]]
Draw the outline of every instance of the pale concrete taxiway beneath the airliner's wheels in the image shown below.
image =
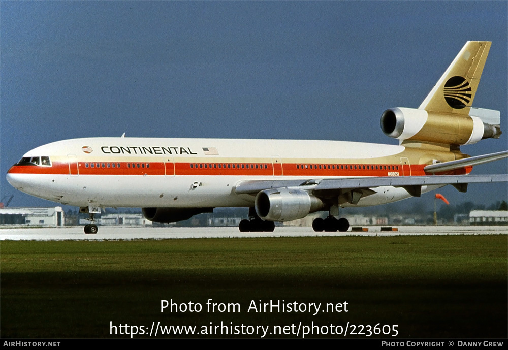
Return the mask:
[[400,235],[506,235],[507,226],[398,226],[398,231],[314,232],[310,227],[276,227],[274,232],[239,232],[236,227],[148,228],[102,226],[97,234],[85,234],[81,226],[65,228],[2,228],[0,240],[130,240],[171,238],[400,236]]

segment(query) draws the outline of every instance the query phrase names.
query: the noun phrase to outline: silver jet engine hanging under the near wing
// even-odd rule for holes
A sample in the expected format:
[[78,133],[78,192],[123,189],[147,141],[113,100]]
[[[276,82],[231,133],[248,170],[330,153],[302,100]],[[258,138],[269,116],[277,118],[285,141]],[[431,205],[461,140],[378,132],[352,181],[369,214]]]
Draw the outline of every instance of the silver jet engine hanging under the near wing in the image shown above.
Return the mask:
[[301,189],[266,189],[256,196],[256,213],[263,220],[291,221],[323,208],[323,202]]

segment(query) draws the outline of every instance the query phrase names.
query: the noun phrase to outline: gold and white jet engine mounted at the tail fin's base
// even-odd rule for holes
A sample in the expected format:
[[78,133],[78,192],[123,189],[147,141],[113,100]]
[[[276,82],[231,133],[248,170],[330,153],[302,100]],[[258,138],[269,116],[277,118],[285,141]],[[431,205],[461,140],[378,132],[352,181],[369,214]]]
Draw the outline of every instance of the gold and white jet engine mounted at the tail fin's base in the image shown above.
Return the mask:
[[434,113],[423,109],[391,108],[381,116],[381,129],[399,140],[467,145],[501,135],[500,112],[471,108],[469,115]]

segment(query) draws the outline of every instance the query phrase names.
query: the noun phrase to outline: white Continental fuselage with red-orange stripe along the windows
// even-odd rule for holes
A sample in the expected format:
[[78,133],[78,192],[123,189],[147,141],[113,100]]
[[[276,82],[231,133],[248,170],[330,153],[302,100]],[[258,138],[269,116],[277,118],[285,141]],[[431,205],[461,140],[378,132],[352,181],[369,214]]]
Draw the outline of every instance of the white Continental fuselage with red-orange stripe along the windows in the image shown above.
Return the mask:
[[[37,157],[39,164],[26,161]],[[30,195],[79,207],[251,207],[254,196],[235,193],[242,181],[424,174],[415,159],[403,146],[357,142],[85,138],[27,152],[7,179]],[[375,192],[357,205],[410,197],[391,186]]]

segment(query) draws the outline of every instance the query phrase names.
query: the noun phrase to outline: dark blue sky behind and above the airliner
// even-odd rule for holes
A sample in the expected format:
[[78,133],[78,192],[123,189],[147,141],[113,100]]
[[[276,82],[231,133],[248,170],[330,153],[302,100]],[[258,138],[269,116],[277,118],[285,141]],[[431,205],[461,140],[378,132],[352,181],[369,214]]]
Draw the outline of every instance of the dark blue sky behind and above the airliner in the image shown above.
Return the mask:
[[[507,149],[507,18],[503,1],[1,1],[0,196],[53,205],[14,190],[5,174],[26,151],[62,139],[396,144],[380,115],[418,107],[467,40],[492,41],[474,106],[500,110],[505,134],[461,149]],[[508,197],[505,184],[448,187],[441,193],[455,203]]]

